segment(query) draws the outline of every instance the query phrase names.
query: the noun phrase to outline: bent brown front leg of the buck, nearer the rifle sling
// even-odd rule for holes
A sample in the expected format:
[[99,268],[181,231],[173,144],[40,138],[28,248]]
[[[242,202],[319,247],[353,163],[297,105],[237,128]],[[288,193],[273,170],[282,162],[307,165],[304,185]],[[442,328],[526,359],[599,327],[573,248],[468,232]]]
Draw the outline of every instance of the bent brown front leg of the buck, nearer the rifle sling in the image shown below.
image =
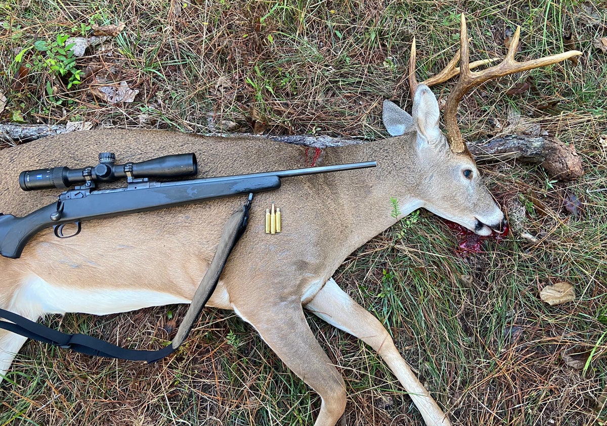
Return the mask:
[[322,399],[315,426],[333,426],[344,414],[345,384],[305,320],[300,300],[265,301],[263,309],[234,311],[253,325],[288,368]]

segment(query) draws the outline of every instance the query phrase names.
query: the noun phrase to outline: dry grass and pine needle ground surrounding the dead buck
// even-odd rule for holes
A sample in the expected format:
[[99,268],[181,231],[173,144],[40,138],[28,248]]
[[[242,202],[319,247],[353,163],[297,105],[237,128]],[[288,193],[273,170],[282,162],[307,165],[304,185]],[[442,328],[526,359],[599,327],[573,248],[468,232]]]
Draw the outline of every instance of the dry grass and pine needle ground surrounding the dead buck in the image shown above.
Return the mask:
[[[272,134],[385,137],[382,100],[410,102],[405,64],[413,35],[422,79],[455,52],[460,12],[469,17],[474,59],[503,55],[504,29],[517,24],[521,59],[566,50],[561,35],[574,33],[583,52],[577,66],[487,83],[460,107],[469,139],[490,135],[492,122],[518,110],[582,155],[586,174],[571,183],[551,181],[537,166],[484,169],[511,221],[522,208],[517,226],[539,234],[541,243],[511,236],[485,242],[480,254],[460,255],[452,231],[422,212],[415,226],[404,221],[353,254],[336,277],[385,322],[456,424],[588,425],[599,417],[604,424],[606,409],[595,407],[607,384],[607,146],[600,139],[607,128],[607,60],[592,47],[606,36],[604,2],[11,0],[0,12],[0,90],[8,98],[2,121],[136,127],[144,114],[144,126],[194,132],[214,132],[230,120],[248,131],[265,122]],[[89,50],[78,59],[78,69],[90,70],[80,85],[67,89],[65,77],[44,67],[15,78],[16,53],[57,34],[77,35],[92,21],[123,21],[126,29],[105,52]],[[140,90],[135,102],[96,99],[90,85],[101,77]],[[531,90],[506,95],[526,78]],[[446,84],[435,93],[449,90]],[[529,189],[550,215],[527,203]],[[578,220],[563,209],[567,191],[585,201]],[[471,286],[461,274],[473,277]],[[575,285],[576,301],[540,302],[539,289],[560,280]],[[181,318],[185,306],[47,322],[149,347],[171,337],[163,330],[169,312]],[[314,318],[310,323],[348,385],[341,425],[420,423],[368,347]],[[565,365],[563,349],[594,350],[588,368]],[[387,398],[392,404],[382,402]],[[0,407],[0,425],[303,425],[313,422],[319,399],[251,327],[206,309],[183,349],[152,366],[30,342],[0,388]]]

